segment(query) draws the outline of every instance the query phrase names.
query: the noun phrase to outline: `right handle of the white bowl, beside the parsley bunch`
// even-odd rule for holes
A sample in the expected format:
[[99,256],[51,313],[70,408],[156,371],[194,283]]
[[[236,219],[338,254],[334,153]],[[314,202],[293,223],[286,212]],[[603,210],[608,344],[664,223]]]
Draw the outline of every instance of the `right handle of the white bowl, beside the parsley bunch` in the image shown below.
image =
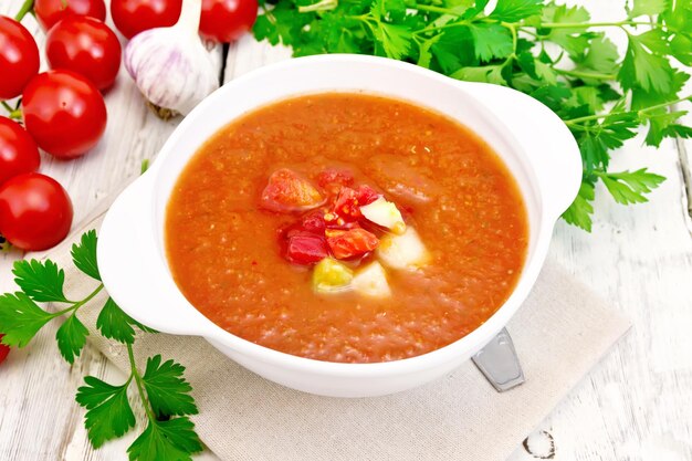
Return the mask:
[[533,97],[506,86],[459,82],[512,132],[530,158],[547,214],[557,219],[581,185],[581,155],[567,125]]

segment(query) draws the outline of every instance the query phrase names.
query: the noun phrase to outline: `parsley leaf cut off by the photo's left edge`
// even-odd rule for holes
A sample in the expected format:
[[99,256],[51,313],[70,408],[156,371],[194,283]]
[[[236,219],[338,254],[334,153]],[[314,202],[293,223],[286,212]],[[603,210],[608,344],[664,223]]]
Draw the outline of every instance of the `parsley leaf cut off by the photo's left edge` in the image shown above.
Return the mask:
[[0,332],[4,333],[2,343],[24,347],[56,315],[43,311],[22,292],[1,295]]

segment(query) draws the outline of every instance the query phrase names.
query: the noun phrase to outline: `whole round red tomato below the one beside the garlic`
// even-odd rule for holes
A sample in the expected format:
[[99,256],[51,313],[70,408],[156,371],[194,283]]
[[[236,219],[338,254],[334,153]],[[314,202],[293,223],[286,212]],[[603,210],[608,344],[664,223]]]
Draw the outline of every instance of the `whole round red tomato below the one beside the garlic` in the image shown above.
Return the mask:
[[106,104],[88,80],[70,71],[33,77],[22,95],[24,126],[43,150],[74,158],[94,147],[106,129]]

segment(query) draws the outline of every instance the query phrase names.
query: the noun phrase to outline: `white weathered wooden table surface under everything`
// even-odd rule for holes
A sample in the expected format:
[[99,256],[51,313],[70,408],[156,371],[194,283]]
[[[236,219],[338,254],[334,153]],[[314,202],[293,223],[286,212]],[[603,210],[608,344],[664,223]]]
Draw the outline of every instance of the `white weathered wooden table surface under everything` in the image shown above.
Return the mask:
[[[610,20],[622,17],[625,2],[572,3],[586,6],[598,20]],[[0,13],[13,15],[20,4],[21,0],[3,0]],[[41,48],[44,35],[33,18],[27,17],[24,24]],[[617,35],[616,42],[622,43],[623,36]],[[286,50],[251,36],[231,45],[226,60],[220,48],[213,53],[220,71],[224,63],[226,81],[289,57]],[[95,149],[73,161],[43,156],[41,170],[69,190],[75,222],[137,176],[141,160],[154,159],[180,122],[154,116],[124,70],[106,103],[108,126]],[[614,168],[646,166],[665,176],[650,203],[616,205],[599,186],[591,234],[557,226],[553,254],[614,308],[627,313],[633,328],[524,443],[517,440],[512,461],[692,460],[690,159],[692,143],[667,140],[653,149],[642,145],[642,137],[632,139],[615,153]],[[11,264],[21,256],[0,255],[0,292],[13,290]],[[84,411],[74,402],[85,375],[115,380],[119,371],[88,345],[69,366],[57,353],[54,335],[53,324],[29,347],[12,350],[0,367],[0,460],[125,460],[135,433],[94,451],[83,427]],[[199,458],[216,459],[210,453]]]

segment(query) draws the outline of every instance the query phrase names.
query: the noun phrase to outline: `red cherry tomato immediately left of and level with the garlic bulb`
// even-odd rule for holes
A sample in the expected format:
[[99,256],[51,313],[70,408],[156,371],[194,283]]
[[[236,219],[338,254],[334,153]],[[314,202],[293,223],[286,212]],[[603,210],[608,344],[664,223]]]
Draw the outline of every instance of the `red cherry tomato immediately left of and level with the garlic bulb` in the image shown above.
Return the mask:
[[115,33],[94,18],[72,15],[55,24],[45,40],[51,69],[66,69],[106,90],[120,69],[120,42]]

